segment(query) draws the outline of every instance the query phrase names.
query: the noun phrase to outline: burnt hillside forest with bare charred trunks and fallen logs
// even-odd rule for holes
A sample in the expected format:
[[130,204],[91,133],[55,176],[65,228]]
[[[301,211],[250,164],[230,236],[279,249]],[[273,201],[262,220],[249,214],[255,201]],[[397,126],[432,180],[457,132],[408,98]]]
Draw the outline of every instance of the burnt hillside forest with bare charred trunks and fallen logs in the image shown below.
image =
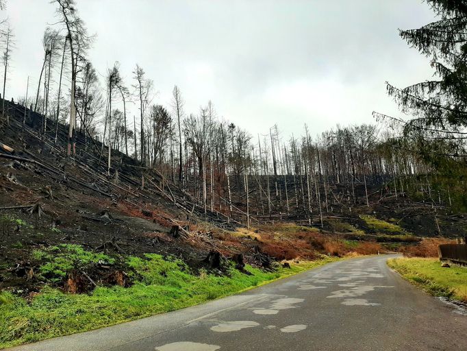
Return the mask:
[[[253,135],[209,99],[188,111],[177,85],[171,104],[155,104],[157,86],[142,66],[98,70],[88,60],[95,37],[75,1],[53,5],[58,22],[42,36],[38,82],[28,78],[19,97],[8,92],[17,44],[2,24],[1,261],[11,270],[22,257],[21,278],[29,246],[270,266],[316,250],[346,253],[342,240],[374,244],[364,253],[376,253],[467,228],[465,180],[457,176],[464,156],[452,155],[441,172],[416,138],[379,114],[374,124],[320,134],[310,120],[300,136],[280,125]],[[277,226],[288,223],[314,234],[284,239]]]

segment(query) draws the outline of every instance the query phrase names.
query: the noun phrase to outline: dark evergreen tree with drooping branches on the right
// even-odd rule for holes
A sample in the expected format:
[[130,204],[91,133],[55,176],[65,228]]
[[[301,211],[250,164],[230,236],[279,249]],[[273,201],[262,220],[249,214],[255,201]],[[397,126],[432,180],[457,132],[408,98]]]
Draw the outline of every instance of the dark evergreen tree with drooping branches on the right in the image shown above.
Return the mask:
[[412,140],[420,156],[440,167],[467,156],[467,3],[427,3],[438,21],[401,30],[400,36],[431,60],[433,79],[407,88],[387,83],[388,94],[412,118],[407,121],[376,112],[375,117],[401,125],[403,136]]

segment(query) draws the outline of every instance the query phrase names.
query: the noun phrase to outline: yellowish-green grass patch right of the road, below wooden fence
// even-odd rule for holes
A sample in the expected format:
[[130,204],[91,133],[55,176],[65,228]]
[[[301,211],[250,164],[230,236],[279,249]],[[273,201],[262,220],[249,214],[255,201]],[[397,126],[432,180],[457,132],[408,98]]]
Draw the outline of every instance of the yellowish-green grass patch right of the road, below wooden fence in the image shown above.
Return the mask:
[[435,296],[467,302],[467,268],[441,267],[436,258],[393,258],[388,265]]

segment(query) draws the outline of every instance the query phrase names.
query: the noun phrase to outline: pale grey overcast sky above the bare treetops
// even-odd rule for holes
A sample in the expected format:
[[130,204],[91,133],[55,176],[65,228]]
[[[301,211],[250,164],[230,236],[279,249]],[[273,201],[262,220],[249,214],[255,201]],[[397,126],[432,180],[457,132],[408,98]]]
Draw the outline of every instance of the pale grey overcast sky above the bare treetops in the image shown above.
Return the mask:
[[[6,97],[37,88],[42,33],[53,24],[49,0],[8,0],[16,49]],[[284,137],[337,123],[372,123],[396,114],[385,82],[407,86],[431,77],[426,58],[397,29],[433,20],[421,0],[77,0],[101,75],[115,61],[128,85],[136,62],[169,106],[174,84],[197,113],[212,100],[219,117]],[[60,27],[60,26],[58,26]],[[133,108],[132,113],[138,113]]]

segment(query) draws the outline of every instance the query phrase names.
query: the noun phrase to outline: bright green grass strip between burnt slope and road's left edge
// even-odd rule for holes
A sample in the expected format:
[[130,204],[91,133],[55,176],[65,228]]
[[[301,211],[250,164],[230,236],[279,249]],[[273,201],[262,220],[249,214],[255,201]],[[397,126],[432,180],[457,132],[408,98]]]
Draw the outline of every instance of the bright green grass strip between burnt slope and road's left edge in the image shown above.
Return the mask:
[[332,261],[336,261],[336,258],[325,257],[318,261],[291,264],[290,269],[279,267],[272,272],[247,266],[251,275],[231,268],[228,276],[214,276],[206,271],[194,275],[183,262],[164,260],[156,254],[147,254],[144,258],[130,257],[127,265],[134,270],[134,278],[138,278],[138,281],[129,288],[98,287],[89,295],[70,295],[45,287],[30,301],[11,293],[2,293],[0,348],[174,311]]

